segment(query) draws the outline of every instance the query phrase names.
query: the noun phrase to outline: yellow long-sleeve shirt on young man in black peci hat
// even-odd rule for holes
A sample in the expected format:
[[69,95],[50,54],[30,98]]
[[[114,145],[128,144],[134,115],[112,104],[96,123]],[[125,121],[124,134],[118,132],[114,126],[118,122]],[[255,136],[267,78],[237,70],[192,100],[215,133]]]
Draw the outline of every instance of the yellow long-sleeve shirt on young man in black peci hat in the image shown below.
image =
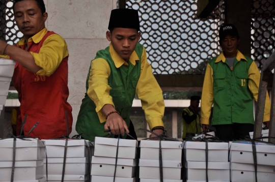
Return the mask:
[[[109,51],[114,60],[116,68],[122,65],[128,65],[124,59],[114,50],[112,44],[109,46]],[[147,61],[146,50],[144,48],[141,57],[141,74],[136,85],[135,93],[142,102],[142,108],[145,112],[145,117],[150,129],[156,126],[163,126],[162,117],[164,114],[164,100],[162,90],[160,89],[154,75],[152,74],[151,65]],[[139,57],[134,51],[129,58],[129,62],[135,65],[139,61]],[[111,74],[111,69],[103,58],[97,58],[91,63],[88,96],[94,101],[96,111],[100,123],[105,122],[105,115],[101,112],[105,104],[112,104],[112,97],[109,91],[112,89],[108,85],[108,77]]]

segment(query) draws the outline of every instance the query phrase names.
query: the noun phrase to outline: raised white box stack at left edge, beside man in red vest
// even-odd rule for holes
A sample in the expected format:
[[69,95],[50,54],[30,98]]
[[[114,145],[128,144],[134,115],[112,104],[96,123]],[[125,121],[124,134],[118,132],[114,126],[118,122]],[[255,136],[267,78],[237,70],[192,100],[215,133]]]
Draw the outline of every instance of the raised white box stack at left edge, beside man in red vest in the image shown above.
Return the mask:
[[10,59],[0,58],[0,115],[9,93],[10,83],[15,62]]

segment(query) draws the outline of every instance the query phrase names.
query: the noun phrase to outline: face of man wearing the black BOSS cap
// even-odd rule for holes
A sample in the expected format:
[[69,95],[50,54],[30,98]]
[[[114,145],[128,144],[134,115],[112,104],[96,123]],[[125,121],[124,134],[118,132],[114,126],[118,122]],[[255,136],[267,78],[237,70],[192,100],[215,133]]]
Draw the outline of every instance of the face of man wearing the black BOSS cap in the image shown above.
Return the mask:
[[239,44],[239,39],[236,36],[226,36],[221,42],[226,57],[235,57]]

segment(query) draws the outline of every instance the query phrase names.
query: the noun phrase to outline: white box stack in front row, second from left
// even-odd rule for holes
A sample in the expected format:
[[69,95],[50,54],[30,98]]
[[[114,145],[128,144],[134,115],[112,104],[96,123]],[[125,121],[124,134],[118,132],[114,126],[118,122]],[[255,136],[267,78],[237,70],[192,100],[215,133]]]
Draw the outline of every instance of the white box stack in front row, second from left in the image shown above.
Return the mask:
[[[44,140],[48,159],[48,181],[62,180],[64,150],[66,140]],[[65,181],[89,180],[89,155],[86,140],[68,140],[65,164]],[[44,161],[44,176],[46,176],[46,161]]]

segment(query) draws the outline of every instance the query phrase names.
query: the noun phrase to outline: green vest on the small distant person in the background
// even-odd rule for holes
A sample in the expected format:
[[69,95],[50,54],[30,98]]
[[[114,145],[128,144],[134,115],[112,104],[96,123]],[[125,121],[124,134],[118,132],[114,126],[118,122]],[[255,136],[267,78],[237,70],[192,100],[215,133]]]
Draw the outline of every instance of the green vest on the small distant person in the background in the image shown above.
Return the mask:
[[[187,112],[189,116],[192,116],[194,113],[189,109],[185,108],[183,109]],[[198,134],[201,133],[201,125],[200,125],[200,116],[197,115],[197,118],[191,122],[190,124],[187,124],[185,120],[183,119],[183,131],[182,131],[182,138],[184,139],[186,137],[186,133],[194,133]]]

